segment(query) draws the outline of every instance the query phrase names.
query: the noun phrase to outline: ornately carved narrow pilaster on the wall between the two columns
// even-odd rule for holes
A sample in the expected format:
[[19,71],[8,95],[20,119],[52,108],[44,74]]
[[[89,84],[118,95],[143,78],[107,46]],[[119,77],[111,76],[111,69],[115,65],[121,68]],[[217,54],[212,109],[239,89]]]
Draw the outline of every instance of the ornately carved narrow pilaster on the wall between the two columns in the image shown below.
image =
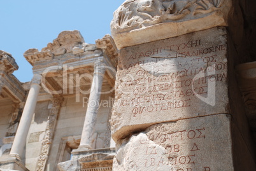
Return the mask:
[[52,144],[53,140],[53,133],[55,131],[57,116],[59,114],[62,102],[63,97],[54,97],[52,101],[52,109],[50,110],[50,114],[48,116],[45,136],[43,137],[41,152],[39,154],[38,163],[36,165],[37,171],[43,171],[45,169],[45,165],[50,152],[50,145]]

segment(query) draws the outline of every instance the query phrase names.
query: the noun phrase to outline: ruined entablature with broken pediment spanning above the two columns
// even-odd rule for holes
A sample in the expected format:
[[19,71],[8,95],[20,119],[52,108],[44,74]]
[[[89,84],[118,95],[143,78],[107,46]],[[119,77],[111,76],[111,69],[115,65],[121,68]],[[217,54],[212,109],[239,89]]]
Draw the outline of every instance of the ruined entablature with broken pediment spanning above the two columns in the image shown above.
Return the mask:
[[73,93],[78,86],[89,90],[92,76],[87,74],[94,72],[96,61],[106,67],[103,86],[114,86],[117,47],[109,35],[98,39],[96,44],[88,44],[79,31],[64,31],[41,51],[25,51],[24,57],[33,66],[34,73],[43,75],[43,86],[49,92]]

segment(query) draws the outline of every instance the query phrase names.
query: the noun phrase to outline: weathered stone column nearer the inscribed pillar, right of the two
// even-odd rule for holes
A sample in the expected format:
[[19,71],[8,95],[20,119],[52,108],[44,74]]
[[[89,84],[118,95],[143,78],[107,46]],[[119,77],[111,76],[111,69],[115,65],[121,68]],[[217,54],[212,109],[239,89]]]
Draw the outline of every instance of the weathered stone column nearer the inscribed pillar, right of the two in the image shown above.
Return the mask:
[[85,115],[85,123],[79,149],[92,149],[92,141],[94,139],[94,127],[96,124],[97,111],[99,108],[99,100],[101,99],[101,87],[103,85],[105,67],[104,63],[97,61],[94,64],[94,76],[90,89],[90,97]]

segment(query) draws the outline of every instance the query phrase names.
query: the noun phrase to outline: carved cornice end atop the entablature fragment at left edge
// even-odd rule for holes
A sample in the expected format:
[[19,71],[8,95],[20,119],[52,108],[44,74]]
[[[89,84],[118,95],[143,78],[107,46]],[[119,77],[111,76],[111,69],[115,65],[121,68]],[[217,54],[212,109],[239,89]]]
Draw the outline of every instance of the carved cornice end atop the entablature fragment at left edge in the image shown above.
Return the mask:
[[17,69],[18,65],[11,54],[0,50],[0,70],[5,71],[7,74],[12,74]]

